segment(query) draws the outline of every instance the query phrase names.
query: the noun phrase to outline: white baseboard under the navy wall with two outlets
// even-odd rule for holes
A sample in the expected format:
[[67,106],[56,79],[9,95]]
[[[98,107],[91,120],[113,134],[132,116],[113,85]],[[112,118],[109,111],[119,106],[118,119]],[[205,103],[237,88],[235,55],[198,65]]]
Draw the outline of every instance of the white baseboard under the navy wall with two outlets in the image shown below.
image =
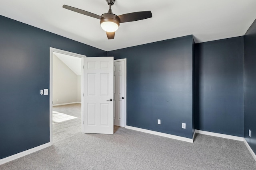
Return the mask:
[[170,135],[170,134],[167,134],[167,133],[150,131],[150,130],[147,130],[147,129],[142,129],[142,128],[138,128],[138,127],[132,127],[132,126],[126,126],[125,128],[131,129],[131,130],[135,130],[135,131],[144,132],[144,133],[150,133],[150,134],[158,135],[158,136],[162,136],[162,137],[168,137],[168,138],[176,139],[176,140],[180,140],[180,141],[185,141],[185,142],[193,143],[193,139],[186,138],[186,137],[180,137],[180,136],[176,136],[176,135]]

